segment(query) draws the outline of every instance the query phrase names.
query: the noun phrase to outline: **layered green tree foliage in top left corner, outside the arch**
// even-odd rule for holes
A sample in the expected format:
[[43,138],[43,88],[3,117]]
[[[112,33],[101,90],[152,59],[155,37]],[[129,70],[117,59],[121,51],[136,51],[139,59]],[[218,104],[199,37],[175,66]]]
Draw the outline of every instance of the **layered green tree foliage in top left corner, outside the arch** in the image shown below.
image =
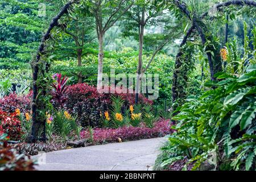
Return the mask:
[[[44,2],[46,16],[40,16],[41,1],[0,2],[0,57],[21,62],[31,60],[37,49],[47,18],[59,7],[56,1]],[[15,32],[15,34],[14,34]]]

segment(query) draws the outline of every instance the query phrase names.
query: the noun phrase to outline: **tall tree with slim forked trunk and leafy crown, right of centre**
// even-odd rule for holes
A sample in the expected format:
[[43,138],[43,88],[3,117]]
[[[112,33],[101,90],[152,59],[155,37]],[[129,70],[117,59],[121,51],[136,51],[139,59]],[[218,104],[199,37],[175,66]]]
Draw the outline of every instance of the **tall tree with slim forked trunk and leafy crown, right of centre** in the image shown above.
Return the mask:
[[[162,8],[155,6],[150,0],[138,0],[127,12],[126,20],[124,21],[123,36],[134,36],[139,42],[139,55],[137,67],[137,81],[135,88],[135,103],[138,103],[138,96],[141,90],[141,77],[147,71],[148,67],[154,60],[156,54],[164,47],[171,39],[177,38],[179,35],[174,35],[176,23],[170,20],[168,12],[163,13]],[[168,19],[166,19],[168,16]],[[145,35],[145,28],[158,27],[161,31],[148,32]],[[146,42],[145,42],[146,40]],[[144,44],[151,47],[153,50],[150,61],[143,69],[143,50]],[[150,45],[150,46],[149,46]]]

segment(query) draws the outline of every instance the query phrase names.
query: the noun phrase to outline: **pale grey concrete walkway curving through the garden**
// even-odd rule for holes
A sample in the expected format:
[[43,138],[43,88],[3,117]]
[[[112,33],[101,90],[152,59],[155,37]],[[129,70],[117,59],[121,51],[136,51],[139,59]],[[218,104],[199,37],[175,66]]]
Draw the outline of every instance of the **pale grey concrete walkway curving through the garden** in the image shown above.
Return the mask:
[[165,140],[154,138],[49,152],[39,158],[46,163],[36,168],[44,171],[151,170]]

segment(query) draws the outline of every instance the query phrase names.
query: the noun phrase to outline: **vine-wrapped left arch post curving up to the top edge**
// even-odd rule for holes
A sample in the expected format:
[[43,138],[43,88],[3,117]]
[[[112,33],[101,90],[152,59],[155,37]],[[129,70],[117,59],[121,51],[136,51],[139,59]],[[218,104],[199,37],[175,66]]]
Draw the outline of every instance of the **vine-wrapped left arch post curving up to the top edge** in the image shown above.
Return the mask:
[[[36,142],[38,136],[42,135],[41,140],[46,140],[46,111],[49,106],[49,98],[47,97],[47,84],[51,82],[51,77],[47,76],[50,64],[47,63],[47,43],[51,38],[53,28],[58,26],[61,16],[68,13],[68,10],[78,0],[68,1],[60,10],[60,12],[52,19],[46,33],[43,35],[36,56],[31,62],[33,77],[33,95],[32,95],[32,128],[28,135],[28,142]],[[43,130],[43,132],[42,132]]]

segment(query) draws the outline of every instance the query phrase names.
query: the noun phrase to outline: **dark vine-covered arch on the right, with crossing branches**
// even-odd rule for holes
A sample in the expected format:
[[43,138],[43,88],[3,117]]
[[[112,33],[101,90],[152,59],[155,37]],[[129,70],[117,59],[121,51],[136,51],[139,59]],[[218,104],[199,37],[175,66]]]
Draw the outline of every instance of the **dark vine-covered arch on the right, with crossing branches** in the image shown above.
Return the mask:
[[[174,106],[172,107],[172,110],[175,111],[178,107],[176,103],[177,100],[179,100],[181,104],[183,104],[184,98],[186,96],[185,90],[184,90],[184,82],[180,82],[181,78],[180,77],[187,77],[187,73],[189,72],[189,69],[191,67],[185,67],[184,63],[187,61],[187,59],[184,59],[184,47],[189,41],[189,38],[193,36],[192,34],[197,32],[197,34],[201,38],[201,42],[203,46],[207,42],[207,38],[205,36],[205,32],[203,28],[201,27],[201,20],[206,18],[209,15],[209,11],[203,13],[199,18],[196,16],[191,17],[191,13],[188,11],[187,6],[185,5],[184,2],[179,1],[179,0],[174,0],[175,5],[180,9],[182,13],[187,16],[189,20],[192,22],[191,28],[187,31],[185,34],[180,46],[179,46],[179,51],[176,55],[176,60],[175,60],[175,69],[174,69],[174,75],[173,75],[173,80],[172,80],[172,101],[174,103]],[[253,6],[256,7],[256,2],[255,1],[249,1],[249,0],[232,0],[228,2],[223,2],[223,3],[218,3],[214,5],[214,9],[216,11],[220,11],[222,7],[228,7],[228,6]],[[199,23],[200,22],[200,26]],[[209,39],[209,38],[208,38]],[[209,69],[210,69],[210,78],[211,80],[215,80],[214,78],[215,73],[220,72],[222,70],[222,63],[221,60],[219,59],[219,56],[215,59],[212,60],[212,54],[210,53],[209,50],[211,50],[212,47],[206,47],[205,48],[205,53],[207,54],[208,58],[208,63],[209,63]],[[214,57],[213,57],[214,58]],[[187,64],[187,63],[186,63]],[[176,115],[176,113],[174,113]]]

